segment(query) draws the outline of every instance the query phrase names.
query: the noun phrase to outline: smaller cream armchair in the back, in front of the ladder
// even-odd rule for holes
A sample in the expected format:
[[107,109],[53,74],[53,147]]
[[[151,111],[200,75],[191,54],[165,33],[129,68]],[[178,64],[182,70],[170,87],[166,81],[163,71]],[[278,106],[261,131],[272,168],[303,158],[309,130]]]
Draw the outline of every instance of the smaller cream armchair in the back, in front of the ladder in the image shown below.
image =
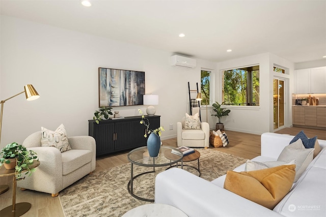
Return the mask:
[[178,147],[209,147],[209,124],[200,123],[199,130],[185,130],[184,117],[181,122],[177,122],[177,144]]

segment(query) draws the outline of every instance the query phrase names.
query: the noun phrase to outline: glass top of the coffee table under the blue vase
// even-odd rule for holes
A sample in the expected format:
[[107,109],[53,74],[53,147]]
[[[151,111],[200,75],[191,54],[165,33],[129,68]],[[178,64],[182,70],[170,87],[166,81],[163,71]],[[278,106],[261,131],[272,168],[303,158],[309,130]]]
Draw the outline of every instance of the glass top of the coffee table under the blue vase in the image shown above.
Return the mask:
[[[180,153],[172,153],[172,150]],[[161,146],[157,157],[149,157],[147,146],[135,148],[128,153],[128,161],[144,167],[162,167],[182,160],[183,153],[174,147]]]

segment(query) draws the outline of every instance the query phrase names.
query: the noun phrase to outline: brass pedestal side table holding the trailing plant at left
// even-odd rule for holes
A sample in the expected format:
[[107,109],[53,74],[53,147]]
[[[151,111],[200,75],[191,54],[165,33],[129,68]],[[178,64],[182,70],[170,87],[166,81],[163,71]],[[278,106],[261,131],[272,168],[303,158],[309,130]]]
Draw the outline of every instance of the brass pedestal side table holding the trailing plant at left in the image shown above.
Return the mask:
[[[35,168],[40,165],[39,161],[34,160],[34,163],[30,168]],[[26,172],[27,170],[23,170],[23,172]],[[5,167],[0,168],[0,177],[5,177],[5,176],[13,176],[12,180],[12,205],[7,206],[6,208],[0,210],[0,216],[20,216],[30,210],[31,204],[27,202],[23,203],[16,203],[16,170],[7,170]],[[18,179],[20,180],[20,179]]]

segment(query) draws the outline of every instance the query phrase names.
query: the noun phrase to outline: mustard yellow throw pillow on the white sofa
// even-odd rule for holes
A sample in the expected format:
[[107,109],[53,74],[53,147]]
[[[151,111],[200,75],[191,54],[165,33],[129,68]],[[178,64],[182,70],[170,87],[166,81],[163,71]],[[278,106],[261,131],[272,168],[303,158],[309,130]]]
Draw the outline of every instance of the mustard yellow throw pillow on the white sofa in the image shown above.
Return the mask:
[[249,172],[228,171],[224,188],[266,208],[274,209],[291,190],[294,176],[293,164]]

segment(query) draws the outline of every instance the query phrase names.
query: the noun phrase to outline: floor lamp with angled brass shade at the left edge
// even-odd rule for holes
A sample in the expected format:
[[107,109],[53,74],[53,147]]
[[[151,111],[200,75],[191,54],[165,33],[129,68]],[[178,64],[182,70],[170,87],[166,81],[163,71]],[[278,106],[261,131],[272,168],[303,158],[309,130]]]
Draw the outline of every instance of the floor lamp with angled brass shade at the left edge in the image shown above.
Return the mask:
[[[1,129],[2,129],[2,116],[3,116],[3,113],[4,113],[4,104],[6,101],[14,98],[14,97],[17,97],[18,95],[21,95],[25,93],[25,96],[26,96],[26,100],[28,101],[32,101],[32,100],[36,100],[40,97],[40,95],[37,93],[37,91],[35,90],[35,88],[33,87],[32,84],[27,84],[24,86],[24,91],[22,92],[19,92],[19,94],[16,94],[12,97],[9,97],[8,99],[6,100],[2,100],[0,103],[1,103],[1,115],[0,115],[0,142],[1,142]],[[1,144],[1,143],[0,143]],[[0,194],[6,192],[8,190],[8,185],[0,185]]]

